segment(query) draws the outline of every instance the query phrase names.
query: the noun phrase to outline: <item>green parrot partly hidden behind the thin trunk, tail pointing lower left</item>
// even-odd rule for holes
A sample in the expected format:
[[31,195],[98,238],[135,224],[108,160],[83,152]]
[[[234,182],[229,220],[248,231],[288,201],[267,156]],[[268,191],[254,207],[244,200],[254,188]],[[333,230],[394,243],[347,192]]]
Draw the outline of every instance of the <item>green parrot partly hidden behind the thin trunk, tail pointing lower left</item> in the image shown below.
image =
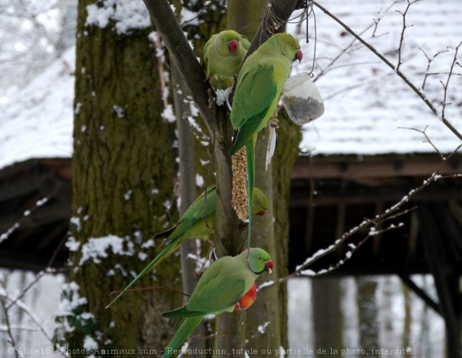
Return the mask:
[[[211,187],[207,189],[207,202],[205,192],[203,192],[180,217],[179,222],[174,227],[154,236],[154,238],[165,238],[165,243],[168,243],[167,247],[162,250],[160,254],[157,255],[129,285],[127,285],[127,287],[125,287],[123,292],[132,287],[134,282],[137,282],[139,278],[151,271],[155,266],[158,266],[166,257],[172,255],[172,253],[188,239],[202,238],[202,240],[211,240],[214,236],[215,229],[215,204],[216,185],[211,185]],[[253,206],[252,214],[258,217],[263,216],[266,210],[268,210],[268,207],[269,203],[267,197],[260,189],[255,187],[255,205]],[[109,308],[120,296],[122,296],[123,292],[120,292],[106,308]]]

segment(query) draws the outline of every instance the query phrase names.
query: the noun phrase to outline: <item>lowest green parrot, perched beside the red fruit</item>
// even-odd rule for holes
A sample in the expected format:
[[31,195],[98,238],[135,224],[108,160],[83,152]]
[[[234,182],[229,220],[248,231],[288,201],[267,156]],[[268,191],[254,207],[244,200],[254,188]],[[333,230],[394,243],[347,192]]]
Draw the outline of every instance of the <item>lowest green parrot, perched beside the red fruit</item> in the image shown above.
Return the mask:
[[202,319],[215,313],[232,312],[235,305],[251,289],[260,273],[271,273],[273,263],[265,250],[251,248],[235,257],[225,256],[213,262],[201,276],[186,306],[162,313],[162,317],[184,319],[177,322],[176,331],[165,348],[162,358],[171,357]]

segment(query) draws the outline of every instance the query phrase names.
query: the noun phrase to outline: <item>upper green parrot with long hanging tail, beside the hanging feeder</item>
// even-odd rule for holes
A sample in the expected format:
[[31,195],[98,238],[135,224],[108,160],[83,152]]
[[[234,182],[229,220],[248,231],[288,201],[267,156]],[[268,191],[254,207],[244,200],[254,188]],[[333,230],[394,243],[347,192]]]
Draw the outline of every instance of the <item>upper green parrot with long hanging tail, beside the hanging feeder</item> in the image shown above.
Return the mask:
[[[290,34],[276,34],[248,56],[237,76],[231,108],[231,123],[235,138],[230,155],[244,145],[247,156],[248,208],[253,207],[255,187],[255,141],[276,110],[284,83],[290,73],[291,62],[302,61],[298,41]],[[250,248],[252,218],[248,217]]]

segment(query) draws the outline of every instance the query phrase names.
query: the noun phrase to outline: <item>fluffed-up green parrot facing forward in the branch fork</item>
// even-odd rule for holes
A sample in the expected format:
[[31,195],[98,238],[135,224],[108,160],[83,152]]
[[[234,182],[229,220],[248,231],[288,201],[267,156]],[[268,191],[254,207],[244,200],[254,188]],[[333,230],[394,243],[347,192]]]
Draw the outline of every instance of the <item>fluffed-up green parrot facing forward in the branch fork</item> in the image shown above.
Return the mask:
[[232,30],[221,31],[209,38],[204,45],[204,62],[207,79],[213,87],[225,90],[234,84],[234,76],[239,73],[249,47],[246,36]]

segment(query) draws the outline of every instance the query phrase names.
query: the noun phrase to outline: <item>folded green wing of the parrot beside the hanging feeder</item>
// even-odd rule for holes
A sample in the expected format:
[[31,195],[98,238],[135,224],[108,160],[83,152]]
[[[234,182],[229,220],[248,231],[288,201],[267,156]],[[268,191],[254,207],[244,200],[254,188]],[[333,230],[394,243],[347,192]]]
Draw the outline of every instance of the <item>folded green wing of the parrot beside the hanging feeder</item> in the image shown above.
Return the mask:
[[[245,65],[245,63],[244,63]],[[255,64],[237,84],[231,122],[237,129],[230,155],[235,154],[258,131],[277,93],[273,66]],[[258,101],[255,101],[258,96]]]

